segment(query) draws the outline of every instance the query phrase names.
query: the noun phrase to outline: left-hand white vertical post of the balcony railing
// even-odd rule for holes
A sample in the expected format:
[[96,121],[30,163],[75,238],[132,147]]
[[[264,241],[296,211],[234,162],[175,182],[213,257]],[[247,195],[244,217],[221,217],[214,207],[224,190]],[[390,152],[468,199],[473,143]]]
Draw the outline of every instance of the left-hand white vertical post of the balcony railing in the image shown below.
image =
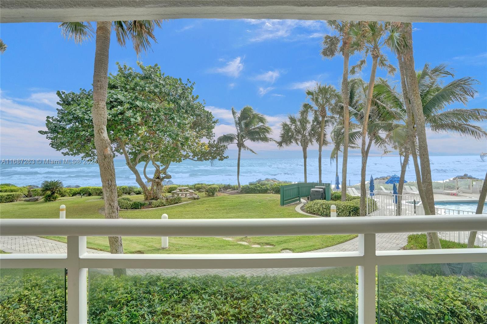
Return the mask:
[[88,269],[79,268],[79,258],[86,254],[86,236],[68,236],[68,323],[88,323]]

